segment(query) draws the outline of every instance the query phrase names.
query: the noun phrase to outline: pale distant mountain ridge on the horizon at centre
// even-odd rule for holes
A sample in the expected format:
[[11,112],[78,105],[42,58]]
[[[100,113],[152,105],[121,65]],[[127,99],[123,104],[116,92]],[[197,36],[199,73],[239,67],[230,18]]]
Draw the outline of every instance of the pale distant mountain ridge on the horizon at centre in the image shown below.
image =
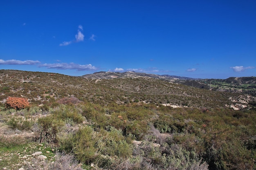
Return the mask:
[[138,73],[135,71],[127,71],[124,73],[111,72],[111,71],[100,71],[93,74],[82,75],[81,77],[87,79],[115,79],[115,78],[137,78],[137,77],[150,77],[154,79],[163,79],[163,80],[192,80],[194,78],[189,77],[180,77],[175,75],[156,75],[148,73]]

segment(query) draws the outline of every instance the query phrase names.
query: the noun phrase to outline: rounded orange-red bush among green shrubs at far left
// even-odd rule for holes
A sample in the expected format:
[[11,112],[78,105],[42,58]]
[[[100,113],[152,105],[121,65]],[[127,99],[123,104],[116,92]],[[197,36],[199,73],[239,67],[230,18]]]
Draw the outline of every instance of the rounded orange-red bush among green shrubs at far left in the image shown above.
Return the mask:
[[15,108],[16,110],[23,109],[29,106],[29,102],[23,97],[8,97],[5,102],[6,108]]

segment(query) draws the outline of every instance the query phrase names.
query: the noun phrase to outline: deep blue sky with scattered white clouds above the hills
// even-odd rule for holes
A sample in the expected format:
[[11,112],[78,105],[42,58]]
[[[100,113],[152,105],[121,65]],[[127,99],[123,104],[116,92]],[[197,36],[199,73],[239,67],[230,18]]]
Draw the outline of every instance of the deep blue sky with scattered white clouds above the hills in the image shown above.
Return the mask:
[[0,69],[256,76],[255,0],[4,0]]

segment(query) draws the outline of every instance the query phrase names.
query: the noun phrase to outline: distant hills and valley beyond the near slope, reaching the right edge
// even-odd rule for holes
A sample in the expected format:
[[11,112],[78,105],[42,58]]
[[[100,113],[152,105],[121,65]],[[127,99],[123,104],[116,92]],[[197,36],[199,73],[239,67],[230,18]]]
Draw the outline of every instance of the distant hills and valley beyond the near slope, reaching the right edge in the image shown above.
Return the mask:
[[128,71],[119,72],[96,72],[93,74],[81,76],[87,79],[116,79],[116,78],[137,78],[149,77],[153,79],[161,79],[177,84],[184,84],[196,88],[207,89],[211,91],[225,91],[232,93],[243,93],[256,96],[256,78],[255,77],[229,77],[227,79],[195,79],[190,77],[180,77],[175,75],[155,75],[147,73],[137,73]]

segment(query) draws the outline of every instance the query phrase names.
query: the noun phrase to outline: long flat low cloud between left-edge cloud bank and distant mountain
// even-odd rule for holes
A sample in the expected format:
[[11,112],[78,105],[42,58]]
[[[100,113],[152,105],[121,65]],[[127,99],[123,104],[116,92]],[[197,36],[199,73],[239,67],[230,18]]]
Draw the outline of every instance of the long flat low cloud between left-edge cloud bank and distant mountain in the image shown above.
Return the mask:
[[80,65],[75,63],[54,63],[54,64],[45,63],[40,65],[40,67],[55,68],[59,70],[74,69],[77,71],[97,70],[97,68],[95,66],[92,66],[92,64]]

